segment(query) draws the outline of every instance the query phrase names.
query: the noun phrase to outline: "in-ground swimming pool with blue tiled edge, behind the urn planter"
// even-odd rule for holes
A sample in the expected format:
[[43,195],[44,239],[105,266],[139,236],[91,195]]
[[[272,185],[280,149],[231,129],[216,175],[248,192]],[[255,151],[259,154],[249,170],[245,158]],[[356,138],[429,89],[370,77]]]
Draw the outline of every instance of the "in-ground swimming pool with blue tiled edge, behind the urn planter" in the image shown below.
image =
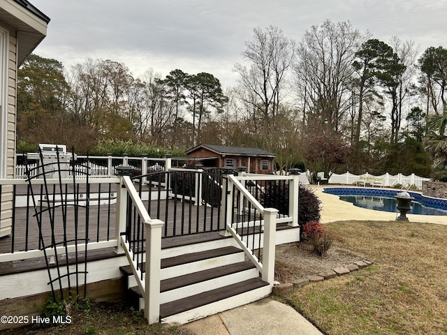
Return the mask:
[[[324,188],[323,192],[339,195],[340,200],[352,202],[358,207],[396,213],[397,200],[394,196],[400,191],[382,188],[330,187]],[[409,214],[447,216],[447,200],[425,197],[417,192],[409,191],[408,193],[414,198]]]

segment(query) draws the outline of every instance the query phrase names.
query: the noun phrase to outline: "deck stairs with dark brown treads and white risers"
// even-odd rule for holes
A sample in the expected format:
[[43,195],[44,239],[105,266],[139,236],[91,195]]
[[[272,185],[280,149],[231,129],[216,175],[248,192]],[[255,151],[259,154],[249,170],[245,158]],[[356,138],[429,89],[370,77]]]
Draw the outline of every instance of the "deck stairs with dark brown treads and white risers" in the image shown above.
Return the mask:
[[[188,252],[189,251],[189,252]],[[130,297],[144,308],[131,268],[121,267]],[[164,248],[161,259],[160,321],[187,323],[230,308],[248,304],[270,294],[258,269],[245,260],[232,239]]]

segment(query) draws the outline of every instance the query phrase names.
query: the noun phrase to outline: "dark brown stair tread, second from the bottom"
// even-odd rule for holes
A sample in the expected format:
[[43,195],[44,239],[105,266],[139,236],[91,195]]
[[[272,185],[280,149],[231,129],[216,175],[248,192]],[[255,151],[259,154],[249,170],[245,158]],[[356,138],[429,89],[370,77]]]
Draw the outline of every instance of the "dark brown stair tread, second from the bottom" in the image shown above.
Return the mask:
[[161,281],[160,291],[166,292],[169,290],[175,290],[176,288],[182,288],[195,283],[209,281],[221,276],[228,276],[229,274],[235,274],[248,269],[256,269],[256,267],[251,262],[237,262],[230,265],[223,265],[221,267],[214,267],[212,269],[193,272],[192,274],[168,278]]

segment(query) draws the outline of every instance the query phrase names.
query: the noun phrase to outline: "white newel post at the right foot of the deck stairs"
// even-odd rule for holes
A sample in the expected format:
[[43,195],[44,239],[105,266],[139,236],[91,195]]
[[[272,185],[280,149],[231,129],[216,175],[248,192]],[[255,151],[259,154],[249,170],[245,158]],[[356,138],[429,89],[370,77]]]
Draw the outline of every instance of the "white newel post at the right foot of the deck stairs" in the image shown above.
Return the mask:
[[270,286],[274,283],[274,254],[276,248],[277,214],[274,208],[264,209],[264,240],[263,240],[263,281]]

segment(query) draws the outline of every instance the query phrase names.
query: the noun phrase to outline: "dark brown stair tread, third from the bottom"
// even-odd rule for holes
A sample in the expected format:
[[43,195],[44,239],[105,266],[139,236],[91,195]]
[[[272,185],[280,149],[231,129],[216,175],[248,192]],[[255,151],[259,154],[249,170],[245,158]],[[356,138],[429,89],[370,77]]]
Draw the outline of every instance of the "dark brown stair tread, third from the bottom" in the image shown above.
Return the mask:
[[[224,255],[231,255],[233,253],[240,253],[242,250],[236,248],[235,246],[225,246],[223,248],[211,249],[209,251],[200,251],[198,253],[188,253],[185,255],[179,255],[170,258],[161,259],[161,269],[166,269],[168,267],[175,267],[177,265],[188,264],[191,262],[198,262],[200,260],[207,260],[209,258],[217,258]],[[145,263],[142,264],[144,269]],[[132,270],[130,265],[124,265],[119,267],[125,274],[131,275]]]

